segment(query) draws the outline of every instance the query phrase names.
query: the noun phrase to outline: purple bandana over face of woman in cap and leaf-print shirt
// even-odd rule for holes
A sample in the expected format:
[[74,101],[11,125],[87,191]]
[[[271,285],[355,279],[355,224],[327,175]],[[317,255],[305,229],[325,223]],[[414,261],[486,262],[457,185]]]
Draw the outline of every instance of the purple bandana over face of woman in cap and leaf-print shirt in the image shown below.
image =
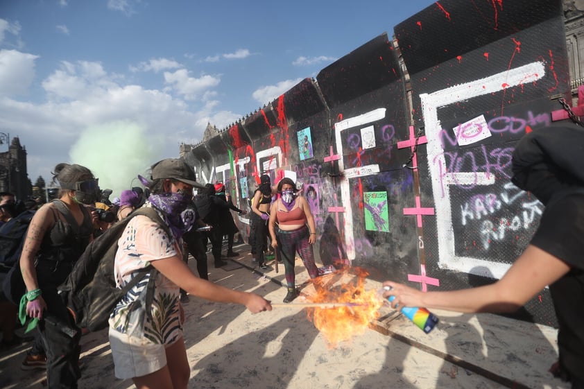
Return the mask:
[[166,223],[169,224],[177,239],[191,230],[195,223],[195,210],[189,207],[193,202],[192,197],[187,191],[160,193],[148,197],[148,201],[156,209],[162,211]]

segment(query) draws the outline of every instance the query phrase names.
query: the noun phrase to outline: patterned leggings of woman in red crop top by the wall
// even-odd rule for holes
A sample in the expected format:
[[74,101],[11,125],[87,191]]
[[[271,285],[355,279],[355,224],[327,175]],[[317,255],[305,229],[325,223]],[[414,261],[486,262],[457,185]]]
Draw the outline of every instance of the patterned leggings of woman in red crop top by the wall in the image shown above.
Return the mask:
[[286,284],[288,288],[295,287],[296,274],[294,271],[295,254],[298,252],[304,267],[308,270],[310,278],[318,276],[318,269],[314,263],[314,252],[312,245],[308,243],[310,236],[308,227],[300,227],[298,230],[282,231],[276,228],[276,238],[278,241],[278,254],[284,262],[286,270]]

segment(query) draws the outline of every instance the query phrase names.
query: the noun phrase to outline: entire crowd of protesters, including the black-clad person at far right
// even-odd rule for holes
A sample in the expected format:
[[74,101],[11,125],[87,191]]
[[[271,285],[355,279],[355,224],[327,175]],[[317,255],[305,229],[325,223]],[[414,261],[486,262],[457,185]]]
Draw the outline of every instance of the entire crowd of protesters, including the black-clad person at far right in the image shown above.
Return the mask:
[[[565,130],[566,135],[571,135],[573,130]],[[563,379],[571,379],[573,389],[583,389],[584,377],[581,369],[578,370],[584,363],[583,331],[581,325],[578,327],[582,318],[582,310],[578,308],[583,301],[583,223],[578,218],[584,196],[582,181],[566,181],[565,175],[556,174],[558,169],[547,159],[532,161],[533,155],[539,154],[528,146],[533,146],[534,142],[529,142],[538,136],[540,132],[526,136],[515,151],[514,183],[533,192],[544,205],[550,202],[550,206],[530,245],[508,274],[499,282],[481,288],[430,293],[386,281],[384,297],[393,297],[391,306],[395,309],[429,306],[461,312],[506,312],[522,306],[550,284],[552,293],[556,294],[553,302],[560,318],[560,359],[553,365],[553,372]],[[547,134],[541,136],[547,139]],[[151,301],[157,304],[147,304],[150,288],[146,288],[147,282],[139,282],[133,284],[112,311],[108,334],[116,377],[132,379],[137,388],[187,388],[190,368],[182,334],[181,303],[188,301],[189,294],[214,302],[242,304],[252,313],[272,309],[264,297],[224,288],[208,280],[207,246],[211,243],[216,268],[226,264],[222,257],[224,236],[226,257],[237,257],[239,253],[234,252],[233,244],[239,230],[234,225],[232,211],[246,214],[233,205],[223,183],[196,182],[194,171],[182,159],[163,159],[151,166],[148,178],[139,178],[144,189],[122,191],[110,201],[111,191],[99,189],[89,168],[58,164],[53,178],[60,184],[58,198],[33,210],[18,266],[26,284],[26,298],[23,297],[21,307],[31,319],[29,325],[37,331],[22,365],[25,369],[46,369],[49,389],[77,388],[80,377],[79,339],[83,329],[76,327],[57,287],[71,273],[89,242],[135,209],[152,208],[162,222],[142,214],[131,218],[118,241],[115,281],[118,288],[123,288],[139,270],[152,266],[155,271],[148,277],[155,280],[155,298]],[[562,189],[561,193],[567,191],[562,202],[550,201],[550,188]],[[269,247],[280,254],[286,270],[286,303],[298,295],[296,254],[315,286],[322,288],[313,252],[318,234],[316,225],[309,202],[298,196],[298,192],[295,182],[289,178],[273,185],[268,175],[261,175],[250,204],[250,245],[256,266],[259,270],[270,269],[266,263]],[[0,234],[25,209],[36,208],[36,204],[25,205],[15,200],[12,193],[0,193]],[[569,223],[564,223],[562,215],[567,214],[572,216]],[[558,228],[560,225],[565,226]],[[577,234],[569,234],[574,231]],[[570,239],[562,241],[560,238],[565,236]],[[338,241],[333,243],[336,248]],[[189,254],[197,261],[198,275],[187,266]],[[525,278],[524,274],[529,272],[530,277]],[[10,306],[12,303],[4,297],[0,295],[1,347],[10,348],[33,340],[15,334],[17,307]],[[568,303],[566,297],[571,299]]]

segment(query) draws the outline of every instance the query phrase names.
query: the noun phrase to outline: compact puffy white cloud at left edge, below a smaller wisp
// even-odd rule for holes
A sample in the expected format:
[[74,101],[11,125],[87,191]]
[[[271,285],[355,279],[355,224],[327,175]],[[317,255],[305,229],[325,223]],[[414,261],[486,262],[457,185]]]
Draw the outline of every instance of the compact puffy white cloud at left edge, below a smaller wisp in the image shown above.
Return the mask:
[[0,96],[24,94],[35,77],[38,55],[0,50]]

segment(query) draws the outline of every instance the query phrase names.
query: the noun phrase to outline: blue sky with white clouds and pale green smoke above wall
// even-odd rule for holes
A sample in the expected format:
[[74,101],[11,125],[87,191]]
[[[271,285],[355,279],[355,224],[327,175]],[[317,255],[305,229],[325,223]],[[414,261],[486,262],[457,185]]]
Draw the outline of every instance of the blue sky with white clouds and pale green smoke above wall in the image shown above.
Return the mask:
[[0,132],[33,184],[75,162],[115,196],[432,3],[1,0]]

